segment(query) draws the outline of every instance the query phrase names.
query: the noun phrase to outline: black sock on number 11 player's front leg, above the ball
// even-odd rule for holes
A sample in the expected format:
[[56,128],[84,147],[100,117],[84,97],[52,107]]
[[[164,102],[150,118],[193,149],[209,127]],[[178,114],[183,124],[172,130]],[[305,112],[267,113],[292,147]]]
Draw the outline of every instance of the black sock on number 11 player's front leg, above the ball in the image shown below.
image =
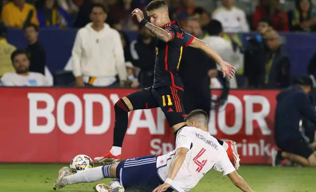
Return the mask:
[[125,104],[124,100],[121,98],[114,105],[115,112],[115,125],[114,125],[114,135],[113,135],[113,146],[122,147],[125,133],[129,124],[130,109]]

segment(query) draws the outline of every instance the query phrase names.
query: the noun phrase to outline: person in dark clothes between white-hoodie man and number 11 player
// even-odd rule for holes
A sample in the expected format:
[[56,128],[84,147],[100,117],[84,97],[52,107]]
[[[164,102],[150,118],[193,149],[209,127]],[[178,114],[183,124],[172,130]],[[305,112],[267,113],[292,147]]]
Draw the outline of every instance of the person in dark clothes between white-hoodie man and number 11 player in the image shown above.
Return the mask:
[[145,27],[139,28],[137,39],[131,43],[133,65],[140,69],[138,80],[142,88],[150,87],[154,82],[156,39]]

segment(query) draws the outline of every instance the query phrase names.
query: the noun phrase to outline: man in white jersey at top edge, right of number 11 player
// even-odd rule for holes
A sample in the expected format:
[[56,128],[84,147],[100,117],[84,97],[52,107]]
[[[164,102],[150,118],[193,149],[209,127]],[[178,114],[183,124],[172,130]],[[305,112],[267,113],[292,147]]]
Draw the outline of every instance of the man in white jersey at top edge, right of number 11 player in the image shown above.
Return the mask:
[[235,0],[222,0],[223,6],[214,11],[212,19],[223,25],[225,33],[249,32],[246,14],[234,6],[234,2]]

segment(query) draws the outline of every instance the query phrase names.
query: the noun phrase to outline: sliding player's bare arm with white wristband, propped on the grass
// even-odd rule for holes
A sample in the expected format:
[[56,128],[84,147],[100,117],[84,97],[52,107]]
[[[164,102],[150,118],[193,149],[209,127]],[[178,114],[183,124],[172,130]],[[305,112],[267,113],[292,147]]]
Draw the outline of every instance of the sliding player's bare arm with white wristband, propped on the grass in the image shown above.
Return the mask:
[[159,185],[153,192],[164,192],[171,186],[173,179],[176,177],[184,162],[187,150],[186,147],[180,147],[176,150],[176,155],[171,162],[166,181],[164,184]]

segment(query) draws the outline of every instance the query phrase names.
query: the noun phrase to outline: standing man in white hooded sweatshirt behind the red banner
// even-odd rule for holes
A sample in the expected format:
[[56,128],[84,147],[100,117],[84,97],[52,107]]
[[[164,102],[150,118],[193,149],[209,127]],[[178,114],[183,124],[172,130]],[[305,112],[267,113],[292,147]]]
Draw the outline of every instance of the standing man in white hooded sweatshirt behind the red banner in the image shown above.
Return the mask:
[[92,23],[79,29],[72,51],[77,86],[123,87],[127,72],[120,34],[105,24],[103,4],[94,4],[90,17]]

